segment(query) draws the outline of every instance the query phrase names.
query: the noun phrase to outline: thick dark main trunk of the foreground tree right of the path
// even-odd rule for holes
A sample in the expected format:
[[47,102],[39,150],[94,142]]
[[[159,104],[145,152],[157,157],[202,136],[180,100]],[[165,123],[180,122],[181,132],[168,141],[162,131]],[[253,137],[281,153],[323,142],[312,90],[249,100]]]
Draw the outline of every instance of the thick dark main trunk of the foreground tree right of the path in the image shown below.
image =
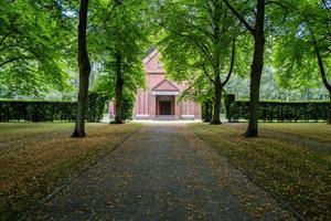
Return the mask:
[[265,0],[257,1],[257,12],[254,34],[254,59],[250,66],[249,122],[245,133],[246,137],[258,136],[259,118],[259,87],[264,66],[265,51]]

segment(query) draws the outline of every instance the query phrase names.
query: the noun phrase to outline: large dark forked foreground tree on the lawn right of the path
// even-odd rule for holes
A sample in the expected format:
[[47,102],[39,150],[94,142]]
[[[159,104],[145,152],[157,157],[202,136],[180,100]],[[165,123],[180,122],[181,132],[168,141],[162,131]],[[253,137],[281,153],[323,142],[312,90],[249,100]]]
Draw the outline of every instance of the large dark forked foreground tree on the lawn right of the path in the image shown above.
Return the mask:
[[[242,22],[243,27],[254,39],[253,62],[250,65],[249,119],[245,135],[247,137],[257,137],[260,78],[265,62],[264,54],[266,44],[266,30],[273,28],[273,14],[276,14],[276,20],[278,20],[280,17],[284,17],[284,12],[287,10],[284,6],[284,2],[287,2],[287,0],[238,0],[234,1],[233,3],[229,3],[228,0],[223,0],[223,2],[233,12],[233,14],[236,15],[236,18]],[[267,6],[275,6],[270,8],[270,14],[268,15],[266,15]],[[275,10],[275,8],[280,9],[281,13],[279,13],[279,10]],[[268,24],[268,27],[266,24]]]

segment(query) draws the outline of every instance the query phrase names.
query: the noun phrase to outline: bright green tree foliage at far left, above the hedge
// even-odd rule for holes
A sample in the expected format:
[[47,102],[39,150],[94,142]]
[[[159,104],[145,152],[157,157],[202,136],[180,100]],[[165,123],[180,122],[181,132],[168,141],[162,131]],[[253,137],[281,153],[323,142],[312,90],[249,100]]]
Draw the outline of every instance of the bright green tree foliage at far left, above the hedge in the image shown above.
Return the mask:
[[[36,1],[0,0],[0,94],[66,90],[64,43],[70,32]],[[66,18],[63,18],[66,19]]]

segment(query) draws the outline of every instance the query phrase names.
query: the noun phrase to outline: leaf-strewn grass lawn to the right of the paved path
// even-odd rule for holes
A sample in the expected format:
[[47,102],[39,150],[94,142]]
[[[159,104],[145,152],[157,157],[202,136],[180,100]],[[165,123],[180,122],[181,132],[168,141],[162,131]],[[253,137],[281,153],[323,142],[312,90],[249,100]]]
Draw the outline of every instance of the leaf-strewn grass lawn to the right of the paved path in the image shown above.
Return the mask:
[[191,124],[221,155],[308,220],[331,218],[331,126],[260,124],[259,138],[244,138],[246,124]]

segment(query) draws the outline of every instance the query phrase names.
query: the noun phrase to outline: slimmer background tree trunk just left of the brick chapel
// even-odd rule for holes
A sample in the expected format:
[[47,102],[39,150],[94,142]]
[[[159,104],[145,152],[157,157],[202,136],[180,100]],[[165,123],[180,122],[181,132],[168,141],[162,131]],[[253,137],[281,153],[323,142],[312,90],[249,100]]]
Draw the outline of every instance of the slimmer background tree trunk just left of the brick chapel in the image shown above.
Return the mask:
[[115,124],[122,124],[121,109],[122,109],[122,85],[124,78],[121,76],[121,56],[116,53],[116,102],[115,102]]

